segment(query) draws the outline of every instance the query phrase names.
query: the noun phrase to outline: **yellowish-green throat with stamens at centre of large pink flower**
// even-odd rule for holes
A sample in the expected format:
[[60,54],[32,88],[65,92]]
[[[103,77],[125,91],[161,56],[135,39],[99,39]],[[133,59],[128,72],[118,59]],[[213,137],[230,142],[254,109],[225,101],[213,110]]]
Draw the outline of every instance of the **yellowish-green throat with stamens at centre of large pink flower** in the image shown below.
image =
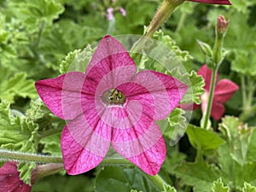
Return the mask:
[[120,90],[110,89],[104,92],[102,101],[107,105],[123,105],[126,98]]

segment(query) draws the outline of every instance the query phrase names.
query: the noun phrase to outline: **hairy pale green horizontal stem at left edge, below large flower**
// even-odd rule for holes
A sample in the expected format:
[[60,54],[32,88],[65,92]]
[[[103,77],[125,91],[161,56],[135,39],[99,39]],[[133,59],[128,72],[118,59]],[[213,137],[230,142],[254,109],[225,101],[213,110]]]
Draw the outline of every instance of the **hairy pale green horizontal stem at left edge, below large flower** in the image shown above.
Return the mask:
[[36,162],[36,163],[62,163],[61,156],[48,156],[42,154],[28,154],[17,151],[0,150],[0,161],[16,160],[19,162]]

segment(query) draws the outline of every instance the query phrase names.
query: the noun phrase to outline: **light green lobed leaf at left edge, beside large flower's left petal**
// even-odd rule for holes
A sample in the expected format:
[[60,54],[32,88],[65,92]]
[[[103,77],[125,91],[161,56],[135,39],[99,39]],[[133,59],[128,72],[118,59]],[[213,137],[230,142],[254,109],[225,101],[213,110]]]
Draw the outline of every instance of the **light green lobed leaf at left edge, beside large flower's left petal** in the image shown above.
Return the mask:
[[34,81],[26,79],[26,73],[12,73],[7,68],[0,70],[0,99],[15,102],[15,96],[36,98]]

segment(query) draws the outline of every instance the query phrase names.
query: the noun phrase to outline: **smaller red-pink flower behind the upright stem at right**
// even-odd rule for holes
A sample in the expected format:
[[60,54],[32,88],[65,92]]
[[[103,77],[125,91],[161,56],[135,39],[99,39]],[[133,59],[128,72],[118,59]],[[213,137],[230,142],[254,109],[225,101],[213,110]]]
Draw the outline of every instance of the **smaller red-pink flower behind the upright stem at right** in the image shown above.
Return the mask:
[[[198,75],[201,75],[203,79],[205,79],[205,93],[201,96],[201,108],[202,113],[206,113],[207,111],[207,104],[209,98],[209,91],[210,91],[210,84],[212,79],[212,70],[207,68],[207,65],[203,65],[199,71],[197,72]],[[239,89],[239,86],[229,79],[221,79],[218,81],[218,74],[216,77],[216,85],[214,89],[214,95],[212,100],[212,110],[211,116],[213,119],[218,120],[224,114],[224,102],[228,102],[235,93],[236,90]],[[195,107],[198,108],[198,107]],[[194,109],[195,109],[194,108]]]

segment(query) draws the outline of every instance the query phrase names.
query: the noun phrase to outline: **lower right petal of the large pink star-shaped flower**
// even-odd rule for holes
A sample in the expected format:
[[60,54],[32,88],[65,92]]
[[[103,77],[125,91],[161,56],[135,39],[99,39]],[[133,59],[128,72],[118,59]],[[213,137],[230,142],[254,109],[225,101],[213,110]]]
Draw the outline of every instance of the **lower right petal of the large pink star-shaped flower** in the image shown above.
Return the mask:
[[[143,135],[141,131],[147,130]],[[134,139],[133,136],[138,136]],[[140,167],[143,172],[155,175],[166,158],[166,144],[158,125],[131,126],[130,129],[113,129],[113,148],[125,159]]]

